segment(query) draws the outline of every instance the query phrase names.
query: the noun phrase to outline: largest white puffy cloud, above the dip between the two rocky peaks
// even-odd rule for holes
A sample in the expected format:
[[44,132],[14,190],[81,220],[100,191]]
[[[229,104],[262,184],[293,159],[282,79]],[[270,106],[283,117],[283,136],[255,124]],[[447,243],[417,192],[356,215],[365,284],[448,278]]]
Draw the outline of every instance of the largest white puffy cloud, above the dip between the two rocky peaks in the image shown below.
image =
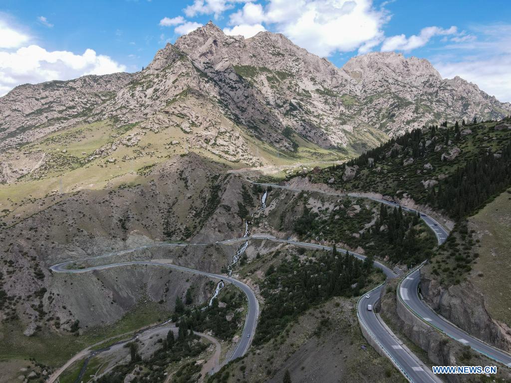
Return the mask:
[[263,30],[283,33],[295,44],[319,56],[368,51],[381,42],[381,27],[388,20],[371,0],[269,0],[265,7],[247,3],[229,17],[224,31],[253,35]]

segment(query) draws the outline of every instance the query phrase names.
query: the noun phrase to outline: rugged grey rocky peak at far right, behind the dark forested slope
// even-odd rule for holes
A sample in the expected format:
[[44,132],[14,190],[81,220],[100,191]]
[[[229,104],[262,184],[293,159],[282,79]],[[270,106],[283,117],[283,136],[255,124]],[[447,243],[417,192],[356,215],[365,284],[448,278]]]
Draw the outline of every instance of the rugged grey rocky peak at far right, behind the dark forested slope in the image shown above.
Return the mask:
[[[427,125],[435,121],[435,113],[455,121],[471,119],[481,110],[498,114],[500,105],[505,110],[511,106],[459,77],[442,79],[431,63],[416,57],[374,52],[352,58],[343,69],[358,81],[360,97],[371,100],[361,108],[361,118],[371,124],[378,121],[390,135]],[[438,89],[442,92],[435,94]],[[415,112],[426,105],[432,109]]]

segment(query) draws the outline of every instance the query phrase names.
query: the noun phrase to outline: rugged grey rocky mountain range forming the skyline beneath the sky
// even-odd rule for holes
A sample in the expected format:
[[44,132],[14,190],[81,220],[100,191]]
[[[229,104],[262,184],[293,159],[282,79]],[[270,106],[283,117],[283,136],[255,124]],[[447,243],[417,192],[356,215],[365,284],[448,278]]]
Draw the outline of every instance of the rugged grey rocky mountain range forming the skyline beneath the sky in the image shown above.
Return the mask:
[[140,146],[148,132],[169,140],[166,150],[230,164],[304,153],[339,159],[445,119],[509,113],[511,104],[459,77],[442,79],[424,59],[369,53],[338,68],[282,34],[245,39],[209,22],[137,73],[25,84],[0,98],[0,181],[44,177],[51,156],[28,144],[100,122],[115,139],[80,151],[76,163]]

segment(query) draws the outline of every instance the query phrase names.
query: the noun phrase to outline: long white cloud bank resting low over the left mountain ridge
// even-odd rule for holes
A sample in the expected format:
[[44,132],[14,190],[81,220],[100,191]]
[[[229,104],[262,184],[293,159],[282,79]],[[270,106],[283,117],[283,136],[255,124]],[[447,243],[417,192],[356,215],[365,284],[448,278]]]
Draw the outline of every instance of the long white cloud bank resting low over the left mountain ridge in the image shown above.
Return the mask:
[[69,80],[84,75],[105,75],[126,70],[108,56],[87,49],[83,55],[67,51],[49,52],[37,45],[15,52],[0,52],[0,95],[25,83]]

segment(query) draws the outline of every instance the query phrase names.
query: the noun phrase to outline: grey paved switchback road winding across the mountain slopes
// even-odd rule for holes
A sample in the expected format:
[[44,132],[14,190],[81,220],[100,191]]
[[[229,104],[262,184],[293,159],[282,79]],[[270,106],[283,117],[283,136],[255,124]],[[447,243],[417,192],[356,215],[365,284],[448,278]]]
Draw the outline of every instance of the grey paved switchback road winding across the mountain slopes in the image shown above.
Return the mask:
[[[399,207],[400,205],[392,202],[386,201],[383,199],[378,199],[374,197],[369,197],[367,195],[357,194],[357,193],[335,193],[335,192],[326,192],[321,189],[314,188],[295,188],[286,185],[278,185],[271,183],[257,183],[252,182],[254,184],[259,184],[261,186],[273,187],[273,188],[281,188],[291,190],[292,192],[317,192],[326,195],[333,196],[352,196],[359,198],[368,198],[374,200],[376,202],[384,203],[390,206]],[[266,193],[265,193],[266,197]],[[264,201],[263,201],[264,204]],[[419,212],[414,209],[410,209],[407,207],[402,207],[403,210],[409,212]],[[419,212],[421,219],[431,228],[431,230],[435,233],[435,236],[438,241],[438,245],[443,244],[447,236],[449,235],[448,231],[442,227],[437,221],[428,216],[425,213]],[[217,241],[215,244],[234,244],[238,242],[246,242],[249,239],[251,240],[267,240],[278,243],[287,243],[295,246],[306,247],[306,248],[315,248],[315,249],[324,249],[324,250],[332,250],[329,246],[310,244],[305,242],[293,241],[293,240],[284,240],[281,238],[276,238],[271,235],[259,234],[259,235],[250,235],[247,236],[248,231],[245,231],[245,235],[239,238],[231,238],[229,240]],[[90,260],[90,259],[98,259],[105,258],[112,255],[120,255],[129,252],[133,252],[136,250],[148,249],[153,247],[186,247],[186,246],[206,246],[210,245],[208,243],[205,244],[154,244],[141,246],[133,249],[123,250],[119,252],[112,252],[100,256],[87,257],[81,260]],[[346,250],[337,249],[339,253],[346,253]],[[357,254],[354,252],[350,252],[355,257],[359,259],[365,259],[364,255]],[[220,274],[207,273],[200,270],[194,270],[185,268],[182,266],[172,265],[165,262],[156,262],[156,261],[130,261],[130,262],[117,262],[109,265],[101,265],[94,266],[84,269],[68,269],[69,266],[72,266],[77,260],[62,262],[61,264],[54,265],[50,269],[54,272],[59,273],[84,273],[92,270],[103,270],[112,267],[121,267],[121,266],[130,266],[130,265],[145,265],[145,266],[157,266],[157,267],[168,267],[175,270],[180,270],[183,272],[189,272],[199,275],[204,275],[209,278],[223,280],[227,283],[232,283],[240,288],[248,300],[248,312],[245,321],[245,325],[242,332],[242,338],[238,345],[236,346],[233,353],[226,358],[224,363],[228,363],[232,360],[235,360],[238,357],[243,356],[252,341],[252,338],[255,333],[255,328],[257,326],[257,319],[259,315],[259,302],[255,297],[253,291],[247,286],[245,283]],[[383,265],[381,262],[375,261],[375,267],[381,269],[387,278],[396,278],[398,275],[390,270],[388,267]],[[501,362],[509,367],[511,367],[511,355],[506,352],[496,349],[490,345],[487,345],[478,339],[471,337],[469,334],[449,323],[442,317],[438,316],[433,312],[419,297],[417,292],[417,286],[420,282],[420,268],[413,271],[411,274],[406,276],[403,280],[402,284],[398,288],[398,297],[403,300],[403,302],[408,306],[410,311],[414,313],[417,317],[424,320],[426,323],[429,323],[436,329],[446,333],[451,338],[463,343],[470,345],[474,350],[481,352],[494,360]],[[369,333],[369,336],[372,337],[376,343],[381,347],[384,353],[390,358],[391,362],[396,366],[403,375],[411,382],[414,383],[439,383],[441,380],[432,373],[432,371],[425,366],[419,358],[417,358],[403,343],[398,339],[398,337],[393,334],[393,332],[382,322],[381,318],[375,314],[373,310],[368,310],[367,305],[371,304],[373,306],[376,305],[380,298],[381,289],[383,289],[384,285],[378,286],[376,289],[371,291],[368,295],[369,298],[362,297],[357,305],[357,315],[359,316],[359,321],[361,326],[364,326],[366,331]]]

